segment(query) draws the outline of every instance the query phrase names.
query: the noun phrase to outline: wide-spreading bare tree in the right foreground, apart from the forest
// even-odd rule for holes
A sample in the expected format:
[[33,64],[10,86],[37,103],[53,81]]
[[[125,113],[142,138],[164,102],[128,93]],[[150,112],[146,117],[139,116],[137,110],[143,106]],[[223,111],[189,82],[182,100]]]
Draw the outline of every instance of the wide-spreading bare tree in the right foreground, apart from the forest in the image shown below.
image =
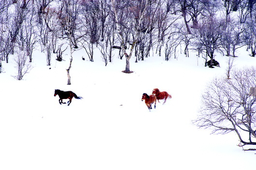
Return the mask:
[[202,95],[200,114],[194,124],[212,133],[235,132],[241,144],[256,145],[256,69],[231,71],[232,79],[215,78]]

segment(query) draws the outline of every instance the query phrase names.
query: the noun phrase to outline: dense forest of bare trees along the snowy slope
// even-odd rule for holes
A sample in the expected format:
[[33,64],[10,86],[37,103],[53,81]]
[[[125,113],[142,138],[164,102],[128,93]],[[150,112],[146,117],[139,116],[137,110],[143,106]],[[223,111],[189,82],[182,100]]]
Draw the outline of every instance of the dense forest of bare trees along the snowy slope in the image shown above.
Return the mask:
[[50,66],[69,48],[70,67],[74,49],[93,62],[98,48],[105,65],[116,50],[126,73],[132,55],[135,62],[153,53],[168,61],[193,51],[212,67],[216,53],[235,57],[246,46],[255,57],[255,6],[256,0],[1,0],[0,72],[20,51],[32,62],[35,49]]

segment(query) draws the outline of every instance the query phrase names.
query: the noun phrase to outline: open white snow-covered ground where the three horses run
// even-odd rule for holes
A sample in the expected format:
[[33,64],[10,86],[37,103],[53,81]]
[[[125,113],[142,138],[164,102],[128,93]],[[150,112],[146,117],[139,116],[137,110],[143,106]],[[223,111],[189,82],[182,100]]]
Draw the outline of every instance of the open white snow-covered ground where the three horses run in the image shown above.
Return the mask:
[[[14,61],[2,63],[0,74],[0,170],[255,170],[255,151],[242,151],[234,133],[210,135],[191,123],[200,107],[205,85],[225,75],[204,67],[203,59],[180,55],[130,59],[113,58],[104,66],[73,53],[71,85],[67,85],[69,52],[55,56],[51,69],[36,51],[33,69],[17,81]],[[152,55],[151,55],[152,56]],[[240,52],[235,67],[256,66],[256,58]],[[172,95],[165,105],[147,109],[142,94],[154,88]],[[70,106],[58,103],[54,90],[71,90],[84,99]]]

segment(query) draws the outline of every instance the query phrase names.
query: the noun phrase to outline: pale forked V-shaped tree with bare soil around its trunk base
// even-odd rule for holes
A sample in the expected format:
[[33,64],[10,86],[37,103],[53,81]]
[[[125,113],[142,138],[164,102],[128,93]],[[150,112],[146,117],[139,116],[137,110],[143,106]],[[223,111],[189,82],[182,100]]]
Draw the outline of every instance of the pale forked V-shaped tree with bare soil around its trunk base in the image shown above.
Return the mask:
[[[120,1],[123,1],[123,0],[120,0]],[[138,42],[138,35],[139,35],[139,32],[140,32],[140,25],[141,25],[142,18],[144,17],[145,10],[148,6],[148,0],[127,1],[127,4],[129,4],[129,8],[127,6],[124,6],[124,8],[127,8],[128,11],[130,10],[129,12],[131,12],[132,17],[135,21],[135,24],[133,25],[133,27],[135,29],[135,33],[134,33],[135,35],[133,35],[134,38],[133,38],[133,42],[131,43],[131,48],[130,48],[129,54],[128,54],[127,49],[125,47],[123,32],[121,31],[122,24],[124,24],[124,23],[122,23],[122,21],[119,20],[119,18],[118,18],[116,0],[112,0],[112,7],[113,7],[113,12],[114,12],[114,20],[115,20],[115,25],[116,25],[116,29],[117,29],[117,35],[118,35],[119,41],[121,42],[122,51],[123,51],[123,53],[126,57],[126,69],[125,69],[125,71],[122,71],[122,72],[132,73],[133,71],[130,71],[129,60],[131,58],[133,49],[134,49],[134,47],[136,46],[136,44]]]

